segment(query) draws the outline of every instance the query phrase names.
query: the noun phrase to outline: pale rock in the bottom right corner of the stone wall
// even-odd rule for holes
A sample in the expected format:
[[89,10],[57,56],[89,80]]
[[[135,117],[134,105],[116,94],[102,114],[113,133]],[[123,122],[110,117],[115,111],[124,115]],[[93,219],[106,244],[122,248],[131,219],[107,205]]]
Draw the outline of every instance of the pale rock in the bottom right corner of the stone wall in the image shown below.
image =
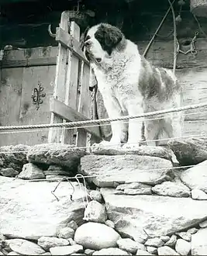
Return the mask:
[[207,228],[198,230],[191,237],[191,255],[207,255]]

